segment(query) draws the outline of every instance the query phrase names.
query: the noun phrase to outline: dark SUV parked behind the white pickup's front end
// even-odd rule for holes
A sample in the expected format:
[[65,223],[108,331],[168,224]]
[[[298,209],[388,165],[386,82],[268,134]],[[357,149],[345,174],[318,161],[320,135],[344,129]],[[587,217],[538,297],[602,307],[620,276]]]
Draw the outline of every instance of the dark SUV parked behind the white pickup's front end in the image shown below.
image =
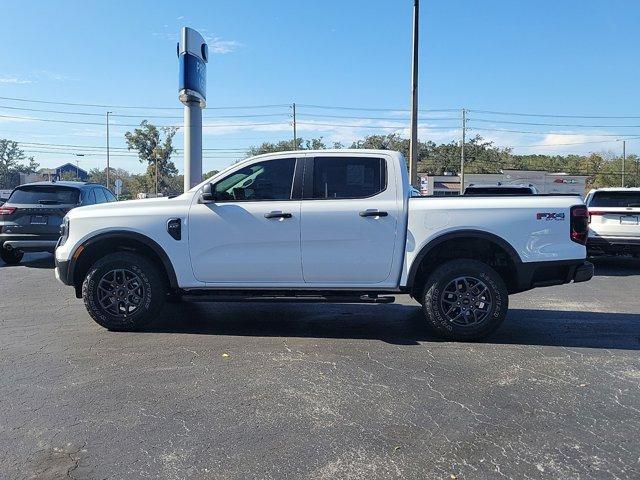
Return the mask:
[[16,187],[0,207],[0,258],[8,264],[24,252],[53,252],[63,217],[72,208],[115,202],[102,185],[86,182],[36,182]]

